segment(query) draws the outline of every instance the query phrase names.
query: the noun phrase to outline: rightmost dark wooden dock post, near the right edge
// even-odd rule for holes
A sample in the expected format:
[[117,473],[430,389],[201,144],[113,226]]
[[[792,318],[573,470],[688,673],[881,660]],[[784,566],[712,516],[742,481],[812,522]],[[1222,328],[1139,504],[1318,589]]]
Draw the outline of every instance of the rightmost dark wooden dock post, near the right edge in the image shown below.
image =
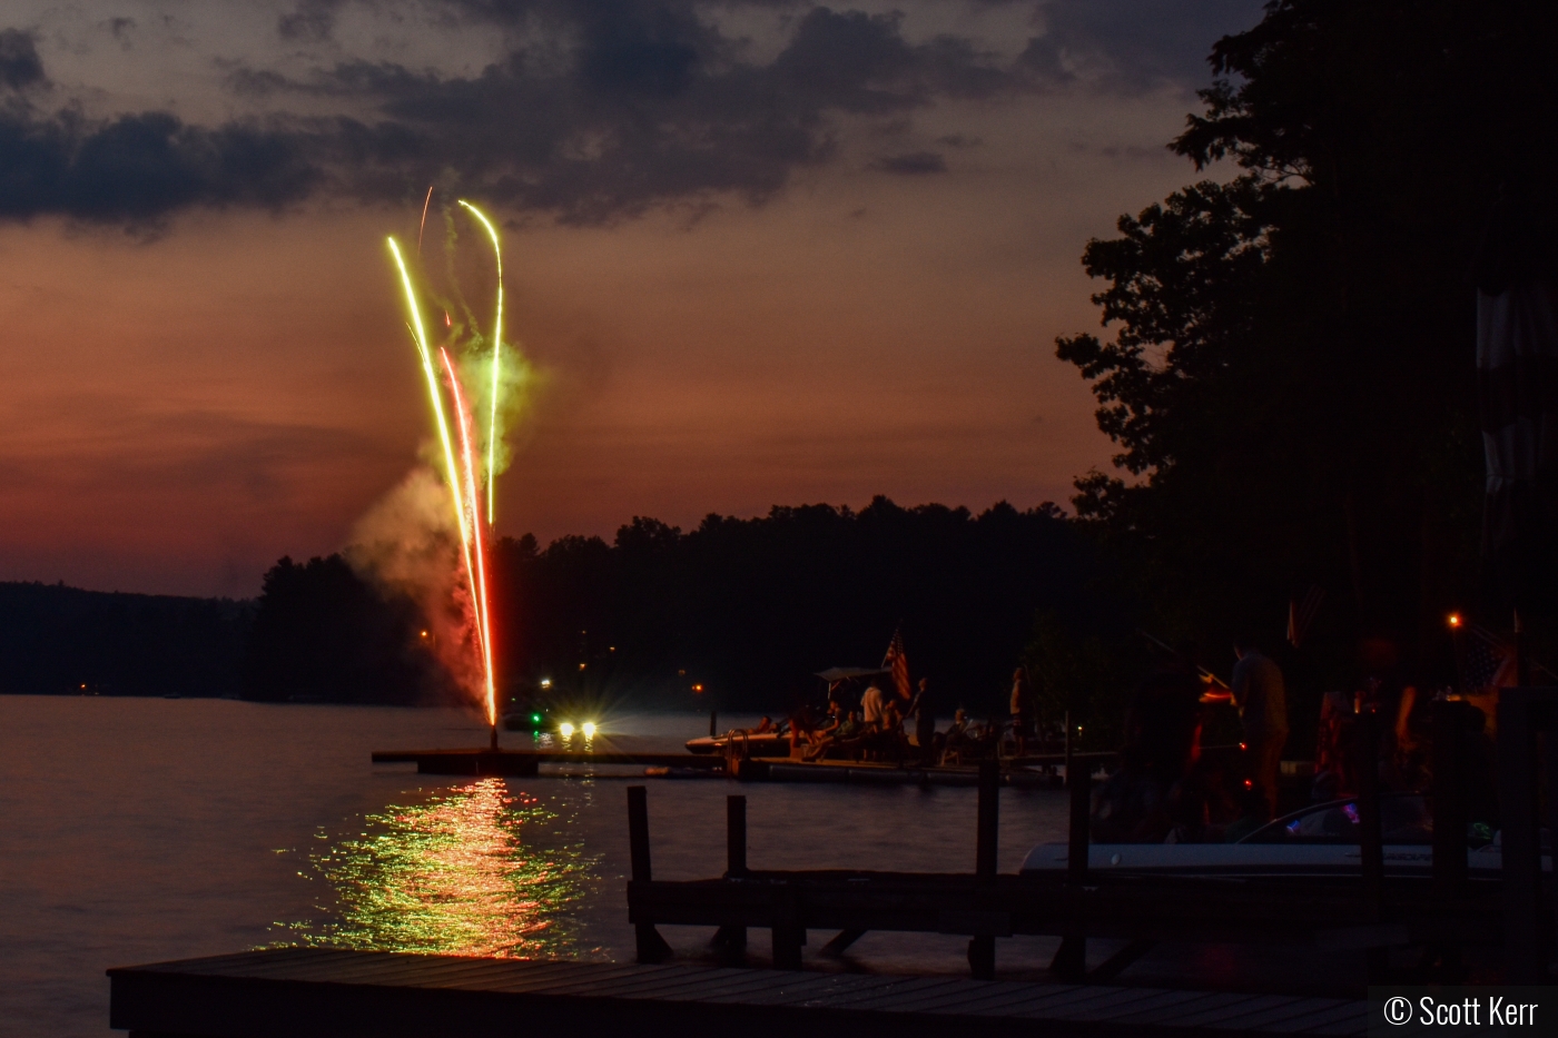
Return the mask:
[[1538,837],[1536,725],[1532,689],[1499,694],[1499,814],[1503,834],[1503,980],[1544,983],[1542,860]]

